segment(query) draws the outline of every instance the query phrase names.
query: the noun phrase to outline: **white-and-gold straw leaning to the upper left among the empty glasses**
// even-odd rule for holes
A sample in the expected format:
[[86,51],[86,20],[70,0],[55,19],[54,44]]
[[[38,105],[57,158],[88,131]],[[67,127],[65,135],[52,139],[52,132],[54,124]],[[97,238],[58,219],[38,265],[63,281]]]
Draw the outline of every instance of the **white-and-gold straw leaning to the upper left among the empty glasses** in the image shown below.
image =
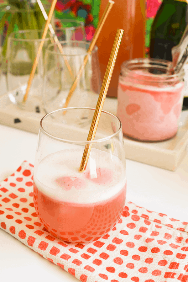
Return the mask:
[[[47,20],[48,20],[48,15],[47,15],[46,11],[44,10],[44,7],[43,7],[42,2],[41,2],[40,0],[37,0],[37,3],[39,4],[39,7],[40,7],[41,12],[42,12],[42,14],[43,14],[43,16],[44,16],[44,19],[47,21]],[[62,55],[64,55],[65,53],[64,53],[64,51],[63,51],[63,48],[62,48],[61,44],[59,43],[59,40],[58,40],[58,38],[57,38],[57,36],[56,36],[56,34],[55,34],[55,31],[54,31],[52,25],[49,24],[49,25],[48,25],[48,28],[50,29],[50,32],[51,32],[51,34],[53,35],[54,41],[55,41],[55,43],[57,44],[57,46],[58,46],[58,48],[59,48],[59,50],[60,50],[60,53],[61,53]],[[54,43],[54,42],[52,42],[52,43]],[[70,67],[69,61],[67,60],[67,57],[66,57],[66,56],[63,56],[63,58],[64,58],[64,61],[65,61],[65,65],[66,65],[66,67],[67,67],[67,69],[68,69],[68,71],[69,71],[69,74],[70,74],[70,76],[71,76],[72,79],[73,79],[74,76],[73,76],[73,72],[72,72],[72,69],[71,69],[71,67]]]

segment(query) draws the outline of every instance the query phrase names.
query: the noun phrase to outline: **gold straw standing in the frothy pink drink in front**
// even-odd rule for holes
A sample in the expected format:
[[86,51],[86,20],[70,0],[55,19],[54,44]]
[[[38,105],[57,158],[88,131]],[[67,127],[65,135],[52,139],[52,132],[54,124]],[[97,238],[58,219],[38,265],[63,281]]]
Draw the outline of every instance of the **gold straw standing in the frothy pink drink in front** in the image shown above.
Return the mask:
[[[90,127],[90,130],[89,130],[87,141],[93,141],[94,138],[95,138],[97,126],[98,126],[99,119],[100,119],[101,112],[102,112],[102,107],[103,107],[103,104],[104,104],[104,101],[105,101],[105,98],[106,98],[106,95],[107,95],[109,83],[110,83],[110,80],[111,80],[111,77],[112,77],[112,72],[113,72],[114,65],[115,65],[115,62],[116,62],[116,58],[117,58],[117,55],[118,55],[118,50],[119,50],[119,46],[120,46],[121,39],[122,39],[122,36],[123,36],[123,32],[124,32],[123,29],[118,29],[118,31],[116,33],[116,38],[114,40],[114,44],[113,44],[112,51],[111,51],[111,54],[110,54],[110,59],[108,61],[104,80],[102,82],[101,92],[99,94],[99,98],[98,98],[98,101],[97,101],[95,113],[93,115],[93,120],[91,122],[91,127]],[[87,165],[87,162],[88,162],[88,159],[89,159],[91,147],[92,147],[92,144],[90,144],[90,145],[87,144],[85,146],[84,153],[83,153],[82,160],[81,160],[81,164],[80,164],[80,168],[79,168],[80,172],[83,172],[86,169],[86,165]]]

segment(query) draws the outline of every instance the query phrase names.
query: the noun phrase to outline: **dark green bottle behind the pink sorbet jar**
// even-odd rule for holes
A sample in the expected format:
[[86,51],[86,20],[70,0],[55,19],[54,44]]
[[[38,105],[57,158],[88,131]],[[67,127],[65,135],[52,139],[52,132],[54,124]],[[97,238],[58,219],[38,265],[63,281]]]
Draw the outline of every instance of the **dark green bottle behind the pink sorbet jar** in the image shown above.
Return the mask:
[[186,0],[163,0],[151,28],[150,58],[172,61],[171,49],[187,25],[187,6]]

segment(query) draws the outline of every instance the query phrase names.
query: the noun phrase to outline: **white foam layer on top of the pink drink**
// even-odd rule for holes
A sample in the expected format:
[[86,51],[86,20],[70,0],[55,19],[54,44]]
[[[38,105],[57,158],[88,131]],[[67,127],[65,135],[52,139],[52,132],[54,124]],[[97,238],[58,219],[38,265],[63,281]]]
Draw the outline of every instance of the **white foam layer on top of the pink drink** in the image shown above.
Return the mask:
[[[83,155],[83,148],[68,149],[45,157],[34,171],[34,182],[37,188],[49,197],[71,203],[91,204],[107,200],[117,194],[125,185],[125,171],[121,161],[107,152],[92,148],[86,172],[95,178],[96,168],[108,168],[112,171],[112,181],[96,184],[86,178],[86,173],[79,173],[78,168]],[[97,160],[97,163],[95,162]],[[112,161],[113,160],[113,161]],[[76,177],[86,182],[86,187],[72,187],[66,191],[60,187],[56,179],[60,177]],[[108,180],[108,179],[107,179]]]

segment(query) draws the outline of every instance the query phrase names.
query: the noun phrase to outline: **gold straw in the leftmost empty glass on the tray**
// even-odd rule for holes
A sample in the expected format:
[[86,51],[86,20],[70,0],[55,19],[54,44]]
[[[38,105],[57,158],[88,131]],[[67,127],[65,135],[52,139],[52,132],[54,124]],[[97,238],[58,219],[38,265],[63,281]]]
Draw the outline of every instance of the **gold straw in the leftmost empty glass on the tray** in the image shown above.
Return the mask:
[[38,61],[39,61],[40,53],[42,51],[42,47],[43,47],[43,44],[44,44],[44,39],[46,38],[46,34],[47,34],[47,31],[48,31],[48,26],[50,24],[50,20],[52,18],[53,12],[54,12],[56,2],[57,2],[57,0],[53,0],[53,2],[51,4],[51,7],[50,7],[50,12],[49,12],[49,15],[48,15],[48,20],[46,21],[46,24],[45,24],[45,27],[44,27],[44,31],[43,31],[43,35],[42,35],[43,41],[40,42],[39,50],[37,52],[37,56],[34,59],[33,67],[32,67],[31,73],[30,73],[29,81],[28,81],[28,86],[27,86],[27,89],[26,89],[26,92],[25,92],[25,95],[24,95],[24,99],[22,101],[23,104],[26,102],[27,97],[28,97],[29,89],[30,89],[31,83],[33,81],[34,73],[35,73],[35,70],[36,70],[36,67],[37,67],[37,64],[38,64]]

